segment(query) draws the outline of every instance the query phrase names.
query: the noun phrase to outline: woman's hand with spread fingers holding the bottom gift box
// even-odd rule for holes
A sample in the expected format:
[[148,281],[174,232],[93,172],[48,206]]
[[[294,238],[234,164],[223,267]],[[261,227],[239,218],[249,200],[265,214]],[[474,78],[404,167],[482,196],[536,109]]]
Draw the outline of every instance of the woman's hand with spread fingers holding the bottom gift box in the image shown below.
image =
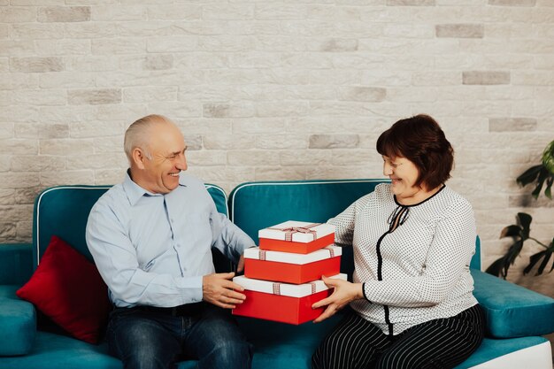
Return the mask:
[[326,276],[322,276],[321,279],[328,288],[334,288],[334,290],[331,296],[312,304],[312,309],[327,306],[327,309],[325,309],[317,319],[313,320],[314,323],[319,323],[335,315],[336,311],[341,310],[344,306],[349,304],[350,301],[364,298],[361,283],[350,283],[349,281],[335,280],[327,278]]

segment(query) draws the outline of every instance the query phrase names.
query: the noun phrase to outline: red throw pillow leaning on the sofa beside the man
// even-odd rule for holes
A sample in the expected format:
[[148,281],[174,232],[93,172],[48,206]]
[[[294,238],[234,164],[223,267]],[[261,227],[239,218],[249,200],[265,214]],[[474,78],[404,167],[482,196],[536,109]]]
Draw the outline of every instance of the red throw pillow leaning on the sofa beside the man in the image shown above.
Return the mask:
[[97,343],[112,304],[96,265],[53,235],[41,263],[17,296],[75,338]]

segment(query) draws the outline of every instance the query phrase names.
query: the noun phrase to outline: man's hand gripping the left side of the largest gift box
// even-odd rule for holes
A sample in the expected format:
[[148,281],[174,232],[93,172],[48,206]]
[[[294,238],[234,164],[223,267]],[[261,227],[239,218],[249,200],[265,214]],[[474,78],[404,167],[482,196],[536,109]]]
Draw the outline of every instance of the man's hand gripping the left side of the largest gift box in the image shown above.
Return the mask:
[[235,273],[213,273],[202,277],[202,299],[210,304],[225,309],[235,309],[242,304],[246,296],[236,291],[243,291],[242,286],[231,281]]

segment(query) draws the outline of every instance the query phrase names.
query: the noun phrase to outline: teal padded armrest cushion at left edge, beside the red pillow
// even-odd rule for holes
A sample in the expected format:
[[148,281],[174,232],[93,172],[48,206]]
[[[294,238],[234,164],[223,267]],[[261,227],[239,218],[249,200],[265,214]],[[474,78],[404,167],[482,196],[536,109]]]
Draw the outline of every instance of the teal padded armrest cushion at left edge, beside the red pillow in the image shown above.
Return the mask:
[[[36,312],[33,304],[15,296],[17,285],[0,286],[0,356],[25,355],[33,347],[36,334]],[[1,367],[2,365],[0,365]]]

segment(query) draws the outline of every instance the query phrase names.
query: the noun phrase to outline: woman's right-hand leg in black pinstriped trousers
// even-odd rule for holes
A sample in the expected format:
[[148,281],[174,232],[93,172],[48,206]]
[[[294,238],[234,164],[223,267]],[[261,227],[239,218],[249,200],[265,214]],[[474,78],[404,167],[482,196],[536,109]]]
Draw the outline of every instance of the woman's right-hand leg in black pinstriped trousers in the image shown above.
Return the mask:
[[400,334],[377,362],[379,369],[449,369],[479,348],[484,316],[475,305],[447,319],[435,319]]

